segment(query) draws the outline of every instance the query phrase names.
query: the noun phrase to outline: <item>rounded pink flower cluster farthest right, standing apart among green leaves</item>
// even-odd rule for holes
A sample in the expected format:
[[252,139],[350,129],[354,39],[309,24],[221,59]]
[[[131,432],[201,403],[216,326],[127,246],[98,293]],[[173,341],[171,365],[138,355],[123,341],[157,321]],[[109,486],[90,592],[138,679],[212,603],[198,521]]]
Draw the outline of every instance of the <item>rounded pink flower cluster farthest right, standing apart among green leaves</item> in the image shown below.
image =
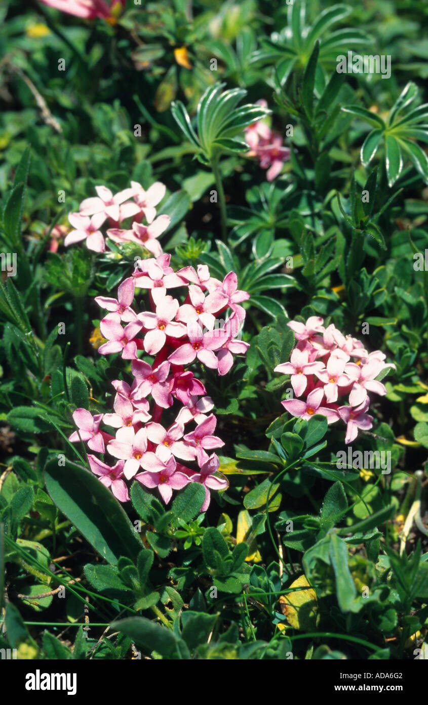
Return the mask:
[[357,338],[342,335],[334,324],[325,328],[323,323],[322,318],[311,316],[306,324],[287,324],[298,342],[290,362],[278,364],[275,372],[291,374],[294,394],[302,398],[285,399],[282,405],[301,419],[308,420],[313,414],[327,417],[329,424],[341,419],[346,423],[345,443],[351,443],[358,429],[367,431],[373,425],[373,417],[367,414],[367,392],[386,394],[376,378],[384,369],[396,368],[384,362],[386,356],[380,350],[367,353]]

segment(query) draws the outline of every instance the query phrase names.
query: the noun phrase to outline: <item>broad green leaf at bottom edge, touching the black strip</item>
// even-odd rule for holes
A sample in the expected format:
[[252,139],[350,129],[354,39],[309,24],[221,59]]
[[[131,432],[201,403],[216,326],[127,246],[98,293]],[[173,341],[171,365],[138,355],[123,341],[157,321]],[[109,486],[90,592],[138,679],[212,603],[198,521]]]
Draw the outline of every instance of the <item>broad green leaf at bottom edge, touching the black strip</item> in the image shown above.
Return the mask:
[[113,622],[111,628],[130,637],[134,644],[148,654],[156,651],[156,654],[163,658],[190,658],[189,649],[182,639],[166,627],[161,627],[145,617],[127,617]]

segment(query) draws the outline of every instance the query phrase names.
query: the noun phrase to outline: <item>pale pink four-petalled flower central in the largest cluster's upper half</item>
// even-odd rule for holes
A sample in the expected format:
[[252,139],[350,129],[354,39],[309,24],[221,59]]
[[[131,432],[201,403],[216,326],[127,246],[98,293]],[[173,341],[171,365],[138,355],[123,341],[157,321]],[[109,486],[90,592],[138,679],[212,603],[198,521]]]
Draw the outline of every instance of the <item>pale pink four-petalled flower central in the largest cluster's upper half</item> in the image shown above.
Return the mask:
[[186,326],[173,321],[178,312],[179,303],[172,296],[164,296],[156,306],[156,313],[144,312],[138,316],[139,321],[149,333],[144,336],[144,350],[149,355],[156,355],[165,345],[166,336],[182,338],[186,335]]

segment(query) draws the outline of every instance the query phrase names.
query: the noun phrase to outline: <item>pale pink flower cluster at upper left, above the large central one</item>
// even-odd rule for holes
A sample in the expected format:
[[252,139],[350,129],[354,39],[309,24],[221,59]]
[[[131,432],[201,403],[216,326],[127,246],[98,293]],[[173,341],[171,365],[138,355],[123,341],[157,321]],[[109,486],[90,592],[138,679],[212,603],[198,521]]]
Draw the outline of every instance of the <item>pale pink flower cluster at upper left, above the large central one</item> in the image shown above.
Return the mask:
[[156,217],[156,206],[165,196],[163,183],[156,181],[144,190],[137,181],[131,181],[130,188],[115,195],[106,186],[96,186],[95,190],[96,196],[85,198],[79,211],[68,216],[74,229],[65,238],[65,247],[85,240],[89,250],[105,252],[106,240],[101,227],[107,221],[110,227],[106,236],[113,242],[136,243],[155,257],[162,255],[158,237],[171,221],[167,215]]

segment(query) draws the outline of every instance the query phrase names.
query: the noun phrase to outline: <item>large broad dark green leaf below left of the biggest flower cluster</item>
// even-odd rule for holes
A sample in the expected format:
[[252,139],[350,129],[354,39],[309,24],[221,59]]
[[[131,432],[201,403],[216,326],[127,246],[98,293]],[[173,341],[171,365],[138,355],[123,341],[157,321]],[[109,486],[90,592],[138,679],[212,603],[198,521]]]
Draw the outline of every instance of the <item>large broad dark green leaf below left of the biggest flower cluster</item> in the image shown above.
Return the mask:
[[46,464],[44,479],[58,509],[108,563],[118,563],[120,556],[137,560],[139,534],[111,491],[92,472],[69,460],[60,467],[53,458]]

